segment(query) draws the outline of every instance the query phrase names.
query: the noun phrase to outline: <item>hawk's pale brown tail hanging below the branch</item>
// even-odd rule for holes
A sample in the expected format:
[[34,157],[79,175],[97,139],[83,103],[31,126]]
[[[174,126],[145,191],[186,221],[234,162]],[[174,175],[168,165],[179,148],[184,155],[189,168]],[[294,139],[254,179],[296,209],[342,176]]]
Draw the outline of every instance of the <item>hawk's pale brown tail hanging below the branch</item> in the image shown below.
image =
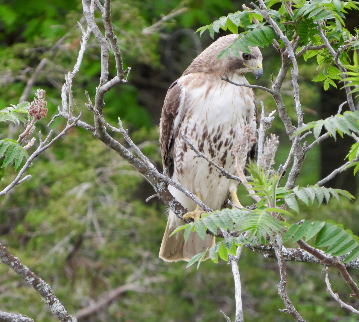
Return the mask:
[[[214,246],[216,239],[211,235],[206,235],[203,241],[197,233],[190,232],[187,243],[185,243],[185,238],[183,237],[184,230],[169,237],[177,227],[184,224],[185,222],[182,219],[178,218],[172,211],[169,212],[166,230],[159,251],[159,257],[164,261],[177,262],[183,260],[188,262],[193,256]],[[208,258],[209,254],[207,253],[204,259]]]

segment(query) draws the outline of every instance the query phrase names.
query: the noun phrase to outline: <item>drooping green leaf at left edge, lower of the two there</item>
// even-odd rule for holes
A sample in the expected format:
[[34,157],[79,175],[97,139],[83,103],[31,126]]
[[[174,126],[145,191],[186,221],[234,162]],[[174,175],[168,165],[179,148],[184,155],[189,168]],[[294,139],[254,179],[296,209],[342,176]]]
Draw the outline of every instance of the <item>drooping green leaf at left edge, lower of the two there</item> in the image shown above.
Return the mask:
[[0,160],[0,168],[14,163],[15,170],[20,166],[23,158],[29,158],[27,151],[19,143],[11,139],[0,140],[0,156],[3,158]]

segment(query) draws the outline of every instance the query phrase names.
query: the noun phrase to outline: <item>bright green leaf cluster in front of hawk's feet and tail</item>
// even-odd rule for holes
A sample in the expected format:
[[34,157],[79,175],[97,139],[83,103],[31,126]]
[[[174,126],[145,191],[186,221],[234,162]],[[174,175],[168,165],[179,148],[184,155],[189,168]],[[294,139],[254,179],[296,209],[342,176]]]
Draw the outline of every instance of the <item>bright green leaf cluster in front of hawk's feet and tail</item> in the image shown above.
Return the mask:
[[[191,259],[188,266],[191,266],[196,261],[198,261],[197,265],[199,266],[207,253],[217,263],[218,256],[228,261],[228,254],[236,255],[237,247],[245,243],[267,244],[273,239],[274,235],[282,233],[284,229],[290,227],[288,223],[279,218],[283,218],[284,215],[293,216],[285,209],[286,206],[299,213],[299,200],[308,206],[313,204],[314,201],[321,205],[323,201],[328,203],[331,198],[339,200],[340,196],[350,200],[354,199],[351,193],[342,189],[320,186],[297,186],[293,189],[279,187],[281,175],[275,171],[265,172],[256,162],[250,163],[248,170],[252,175],[251,185],[254,195],[261,197],[256,209],[214,211],[194,223],[178,227],[172,233],[175,234],[184,229],[184,238],[185,242],[187,242],[190,232],[197,232],[203,240],[207,233],[216,235],[218,228],[231,232],[229,239],[219,241],[215,246],[197,254]],[[293,228],[290,227],[289,230],[292,232]]]

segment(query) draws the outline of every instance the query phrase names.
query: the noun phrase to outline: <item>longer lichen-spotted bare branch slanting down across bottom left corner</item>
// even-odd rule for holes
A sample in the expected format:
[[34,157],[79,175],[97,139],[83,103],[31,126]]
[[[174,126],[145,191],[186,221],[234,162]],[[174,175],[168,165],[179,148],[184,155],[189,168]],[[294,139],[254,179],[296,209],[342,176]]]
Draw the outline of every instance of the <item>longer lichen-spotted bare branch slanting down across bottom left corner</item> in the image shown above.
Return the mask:
[[50,285],[39,278],[25,265],[23,265],[18,258],[10,254],[8,249],[0,243],[0,258],[1,263],[8,265],[14,270],[27,284],[36,290],[43,300],[51,309],[51,312],[62,322],[76,322],[76,319],[70,316],[60,300],[53,294]]

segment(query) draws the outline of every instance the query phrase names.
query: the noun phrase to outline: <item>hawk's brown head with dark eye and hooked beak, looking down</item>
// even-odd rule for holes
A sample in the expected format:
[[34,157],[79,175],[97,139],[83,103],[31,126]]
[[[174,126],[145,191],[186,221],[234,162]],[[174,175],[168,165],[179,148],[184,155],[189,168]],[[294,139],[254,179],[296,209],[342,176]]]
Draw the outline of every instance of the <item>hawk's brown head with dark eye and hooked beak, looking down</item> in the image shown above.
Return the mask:
[[249,47],[250,53],[238,50],[239,56],[234,55],[234,53],[230,51],[228,59],[226,55],[218,59],[219,53],[232,45],[234,39],[237,37],[237,34],[231,34],[218,38],[194,59],[183,74],[205,72],[244,75],[246,73],[253,73],[256,79],[260,78],[263,73],[263,68],[262,53],[258,47]]

